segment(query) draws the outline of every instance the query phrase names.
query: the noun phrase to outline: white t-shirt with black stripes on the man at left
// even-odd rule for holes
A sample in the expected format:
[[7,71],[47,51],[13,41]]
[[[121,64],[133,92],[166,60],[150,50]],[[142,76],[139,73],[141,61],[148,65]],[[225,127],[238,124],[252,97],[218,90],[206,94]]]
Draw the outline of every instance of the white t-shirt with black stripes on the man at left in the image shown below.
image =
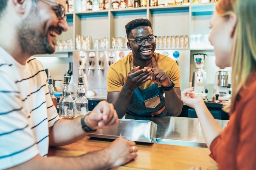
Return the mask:
[[59,119],[43,65],[19,64],[0,47],[0,169],[47,156],[48,128]]

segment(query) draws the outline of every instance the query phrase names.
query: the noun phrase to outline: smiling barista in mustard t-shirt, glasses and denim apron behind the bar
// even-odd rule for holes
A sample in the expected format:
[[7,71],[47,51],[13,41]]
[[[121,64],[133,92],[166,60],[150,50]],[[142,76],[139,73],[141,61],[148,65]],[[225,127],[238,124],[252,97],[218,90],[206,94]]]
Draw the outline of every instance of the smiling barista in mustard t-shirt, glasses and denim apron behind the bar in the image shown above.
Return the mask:
[[125,29],[127,46],[132,53],[108,70],[108,102],[114,105],[119,118],[126,113],[178,116],[183,102],[176,62],[155,53],[157,36],[153,34],[149,20],[132,20]]

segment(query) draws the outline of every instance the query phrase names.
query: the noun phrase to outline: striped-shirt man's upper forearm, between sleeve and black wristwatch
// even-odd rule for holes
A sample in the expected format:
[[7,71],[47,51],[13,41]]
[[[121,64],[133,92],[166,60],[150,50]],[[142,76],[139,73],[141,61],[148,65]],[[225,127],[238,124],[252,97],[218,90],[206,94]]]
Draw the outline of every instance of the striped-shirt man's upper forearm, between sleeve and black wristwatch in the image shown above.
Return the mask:
[[60,119],[51,128],[49,128],[49,145],[64,146],[76,142],[87,136],[82,129],[81,118],[73,120]]

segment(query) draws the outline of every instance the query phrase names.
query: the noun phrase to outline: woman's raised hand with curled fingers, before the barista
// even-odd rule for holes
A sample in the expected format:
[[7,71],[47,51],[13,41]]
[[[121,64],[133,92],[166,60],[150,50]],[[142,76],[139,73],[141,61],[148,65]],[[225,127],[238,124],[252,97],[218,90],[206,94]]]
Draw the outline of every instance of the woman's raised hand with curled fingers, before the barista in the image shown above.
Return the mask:
[[200,106],[201,104],[204,104],[204,101],[201,97],[195,95],[193,93],[194,87],[187,88],[181,93],[181,100],[189,107],[192,107],[195,109],[196,106]]

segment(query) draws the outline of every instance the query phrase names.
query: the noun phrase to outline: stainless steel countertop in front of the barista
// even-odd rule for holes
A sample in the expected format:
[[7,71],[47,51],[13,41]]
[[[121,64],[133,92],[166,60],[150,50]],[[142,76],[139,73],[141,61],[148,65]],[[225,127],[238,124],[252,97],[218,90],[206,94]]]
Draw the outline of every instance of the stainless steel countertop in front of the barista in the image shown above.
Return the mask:
[[[207,148],[197,118],[183,117],[138,117],[125,115],[124,119],[151,120],[157,124],[157,143]],[[216,120],[224,129],[228,120]]]

